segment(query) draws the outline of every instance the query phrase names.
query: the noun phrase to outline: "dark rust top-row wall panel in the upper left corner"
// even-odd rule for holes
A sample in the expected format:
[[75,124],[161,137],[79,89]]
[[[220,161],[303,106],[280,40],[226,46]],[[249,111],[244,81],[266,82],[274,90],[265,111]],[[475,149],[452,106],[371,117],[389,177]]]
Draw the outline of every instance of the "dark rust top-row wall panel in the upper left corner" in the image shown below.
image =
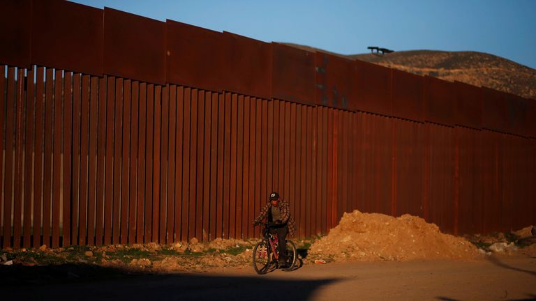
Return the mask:
[[[21,22],[31,16],[31,0],[0,2],[0,63],[29,68],[31,65],[31,22]],[[39,1],[37,1],[39,2]],[[3,68],[3,66],[2,66]]]

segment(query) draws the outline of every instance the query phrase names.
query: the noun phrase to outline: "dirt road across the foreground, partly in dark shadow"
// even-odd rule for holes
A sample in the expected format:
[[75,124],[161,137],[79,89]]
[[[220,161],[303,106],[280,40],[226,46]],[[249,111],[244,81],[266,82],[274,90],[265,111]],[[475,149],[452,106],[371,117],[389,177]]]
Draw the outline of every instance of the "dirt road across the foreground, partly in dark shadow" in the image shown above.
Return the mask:
[[[13,275],[28,275],[13,270]],[[76,267],[73,267],[76,269]],[[66,275],[63,275],[63,274]],[[489,256],[479,261],[306,264],[293,272],[256,275],[252,268],[196,274],[81,277],[83,270],[39,272],[6,282],[6,300],[536,300],[536,258]],[[51,276],[52,275],[52,276]],[[112,276],[110,276],[112,275]],[[54,280],[53,277],[56,277]],[[63,277],[63,278],[62,278]],[[97,279],[96,279],[97,278]],[[62,280],[63,279],[63,280]]]

